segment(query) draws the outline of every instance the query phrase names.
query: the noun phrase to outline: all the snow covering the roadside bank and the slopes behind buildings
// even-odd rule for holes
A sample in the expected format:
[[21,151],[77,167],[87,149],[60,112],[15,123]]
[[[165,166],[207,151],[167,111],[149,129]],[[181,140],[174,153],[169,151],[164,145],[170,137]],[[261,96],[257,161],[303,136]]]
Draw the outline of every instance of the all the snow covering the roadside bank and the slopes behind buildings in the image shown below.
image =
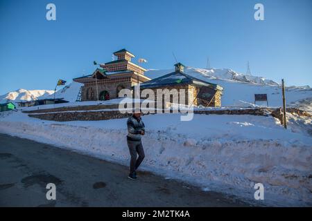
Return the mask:
[[[172,71],[149,70],[146,75],[155,78]],[[252,107],[255,93],[268,94],[271,107],[281,106],[281,87],[263,77],[215,68],[189,67],[185,72],[224,88],[223,107],[214,109]],[[76,102],[80,86],[72,82],[57,91],[55,97],[64,98],[69,103],[23,107],[0,113],[0,133],[47,142],[128,165],[126,119],[52,122],[21,113],[21,109],[97,104]],[[0,100],[54,97],[51,91],[45,90],[33,97],[28,93],[23,97],[23,93],[6,94]],[[112,99],[101,104],[119,104],[121,100]],[[286,101],[287,106],[312,111],[312,89],[309,86],[287,87]],[[239,195],[251,202],[254,202],[254,184],[261,182],[265,187],[264,204],[311,206],[311,117],[288,114],[288,120],[288,130],[285,130],[274,117],[194,115],[191,121],[181,122],[180,114],[146,115],[143,169],[200,185],[206,191]]]

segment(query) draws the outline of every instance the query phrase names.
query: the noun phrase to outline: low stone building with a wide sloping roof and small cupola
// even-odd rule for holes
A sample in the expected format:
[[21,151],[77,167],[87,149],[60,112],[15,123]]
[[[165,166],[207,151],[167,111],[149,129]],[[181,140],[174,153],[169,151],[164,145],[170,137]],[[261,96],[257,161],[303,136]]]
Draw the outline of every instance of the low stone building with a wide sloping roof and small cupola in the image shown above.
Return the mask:
[[[207,81],[202,81],[201,79],[187,75],[184,73],[184,65],[181,63],[175,64],[175,71],[173,73],[168,73],[167,75],[140,84],[141,90],[146,88],[154,90],[155,100],[157,100],[157,89],[168,89],[169,91],[167,90],[166,93],[170,93],[172,89],[177,89],[178,91],[184,89],[186,98],[185,104],[187,105],[205,107],[221,106],[223,88],[217,84],[211,84]],[[163,96],[165,96],[166,93],[164,93]],[[168,96],[171,97],[169,102],[174,103],[172,95],[169,94]]]

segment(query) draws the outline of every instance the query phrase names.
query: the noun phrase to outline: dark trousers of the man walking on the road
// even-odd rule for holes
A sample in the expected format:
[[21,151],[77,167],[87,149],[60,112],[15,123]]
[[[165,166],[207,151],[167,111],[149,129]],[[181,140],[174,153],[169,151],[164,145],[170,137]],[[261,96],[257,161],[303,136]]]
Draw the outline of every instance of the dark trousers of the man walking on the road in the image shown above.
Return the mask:
[[[137,170],[141,162],[144,160],[145,154],[141,140],[140,141],[127,140],[127,143],[131,155],[130,173],[133,173]],[[139,154],[138,158],[137,154]]]

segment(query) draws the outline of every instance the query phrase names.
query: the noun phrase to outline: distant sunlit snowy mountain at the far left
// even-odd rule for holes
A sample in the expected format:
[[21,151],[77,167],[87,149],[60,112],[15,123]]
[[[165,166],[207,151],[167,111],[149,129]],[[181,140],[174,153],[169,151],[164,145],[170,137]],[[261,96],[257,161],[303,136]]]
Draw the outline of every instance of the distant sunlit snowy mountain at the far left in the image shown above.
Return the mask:
[[38,99],[39,97],[51,95],[53,93],[54,93],[54,90],[19,89],[19,90],[6,93],[5,95],[1,95],[0,103],[32,101],[32,100]]

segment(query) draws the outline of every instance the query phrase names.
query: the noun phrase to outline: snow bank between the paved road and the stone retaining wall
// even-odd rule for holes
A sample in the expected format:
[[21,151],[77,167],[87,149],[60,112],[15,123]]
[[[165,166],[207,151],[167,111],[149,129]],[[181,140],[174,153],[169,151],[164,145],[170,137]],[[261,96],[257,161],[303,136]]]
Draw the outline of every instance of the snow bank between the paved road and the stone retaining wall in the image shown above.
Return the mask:
[[[311,128],[311,119],[304,121]],[[261,182],[264,204],[312,204],[312,137],[296,120],[288,130],[273,117],[253,115],[195,115],[181,122],[180,114],[157,114],[144,116],[144,123],[145,170],[250,202]],[[0,133],[128,165],[126,119],[51,122],[10,111],[0,115]]]

